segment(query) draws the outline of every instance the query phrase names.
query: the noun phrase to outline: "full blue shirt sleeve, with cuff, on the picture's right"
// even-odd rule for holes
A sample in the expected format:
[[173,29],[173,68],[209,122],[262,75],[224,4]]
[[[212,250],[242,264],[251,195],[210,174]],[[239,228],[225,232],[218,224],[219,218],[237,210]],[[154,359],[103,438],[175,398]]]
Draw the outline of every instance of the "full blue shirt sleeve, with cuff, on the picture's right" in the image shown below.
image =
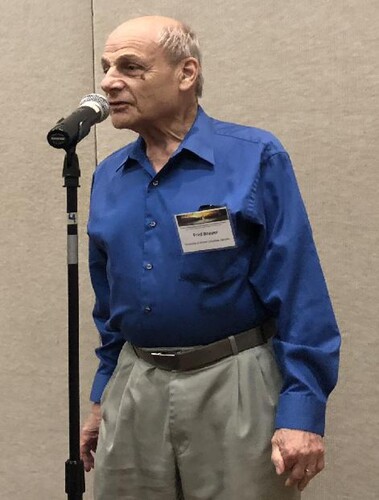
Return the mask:
[[283,376],[276,428],[323,435],[327,397],[337,382],[340,335],[285,152],[264,162],[253,191],[263,230],[250,282],[276,318],[273,347]]

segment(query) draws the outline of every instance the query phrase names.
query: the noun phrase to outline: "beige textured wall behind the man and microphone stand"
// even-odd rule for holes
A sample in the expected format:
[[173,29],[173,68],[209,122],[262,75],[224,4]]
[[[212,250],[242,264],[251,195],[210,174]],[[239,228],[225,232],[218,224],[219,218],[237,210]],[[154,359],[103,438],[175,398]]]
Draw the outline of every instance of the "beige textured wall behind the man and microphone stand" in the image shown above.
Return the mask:
[[[150,13],[198,32],[208,113],[272,130],[292,156],[344,338],[327,469],[304,498],[378,498],[378,0],[0,3],[0,498],[66,498],[63,155],[45,135],[94,85],[99,90],[106,34]],[[84,412],[97,345],[86,270],[91,172],[96,154],[130,137],[106,122],[97,152],[94,134],[78,148]]]

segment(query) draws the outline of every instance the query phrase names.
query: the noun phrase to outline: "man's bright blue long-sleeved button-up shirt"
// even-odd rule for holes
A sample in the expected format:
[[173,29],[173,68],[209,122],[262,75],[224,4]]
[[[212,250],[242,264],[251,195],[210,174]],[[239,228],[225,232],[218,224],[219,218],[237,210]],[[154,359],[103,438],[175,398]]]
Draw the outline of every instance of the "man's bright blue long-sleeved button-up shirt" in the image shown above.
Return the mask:
[[[204,205],[228,208],[236,246],[184,254],[175,215]],[[207,344],[273,317],[276,427],[323,433],[339,332],[291,161],[271,133],[199,108],[158,173],[138,138],[96,169],[88,233],[102,340],[92,401],[125,341]]]

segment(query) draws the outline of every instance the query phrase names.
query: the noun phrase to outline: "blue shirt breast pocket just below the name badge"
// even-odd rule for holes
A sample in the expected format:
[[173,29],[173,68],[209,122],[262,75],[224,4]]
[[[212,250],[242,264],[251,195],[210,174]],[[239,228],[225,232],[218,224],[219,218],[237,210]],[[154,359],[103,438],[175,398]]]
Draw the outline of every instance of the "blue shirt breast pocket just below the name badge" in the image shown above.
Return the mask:
[[239,273],[238,248],[182,255],[181,280],[218,284],[235,278]]

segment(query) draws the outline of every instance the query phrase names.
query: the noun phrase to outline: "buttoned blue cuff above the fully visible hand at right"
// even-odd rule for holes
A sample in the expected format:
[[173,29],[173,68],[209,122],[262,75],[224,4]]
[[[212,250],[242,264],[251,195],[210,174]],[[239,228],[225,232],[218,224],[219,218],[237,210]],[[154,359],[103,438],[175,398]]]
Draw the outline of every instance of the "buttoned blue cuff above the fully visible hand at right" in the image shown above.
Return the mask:
[[326,403],[302,394],[281,394],[276,412],[276,429],[297,429],[314,432],[320,436],[325,432]]

